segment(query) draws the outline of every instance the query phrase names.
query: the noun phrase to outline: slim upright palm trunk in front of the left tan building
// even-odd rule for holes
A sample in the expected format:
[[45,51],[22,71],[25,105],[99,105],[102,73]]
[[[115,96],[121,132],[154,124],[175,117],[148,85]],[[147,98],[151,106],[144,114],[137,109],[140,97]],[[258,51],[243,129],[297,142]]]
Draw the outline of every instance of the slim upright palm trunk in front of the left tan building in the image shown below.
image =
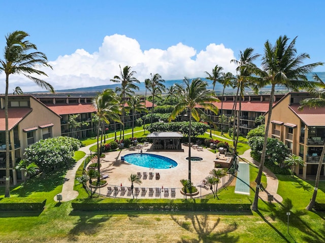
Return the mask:
[[6,189],[5,197],[10,197],[10,147],[9,147],[9,120],[8,120],[8,87],[9,74],[6,74],[6,94],[5,94],[5,120],[6,120]]

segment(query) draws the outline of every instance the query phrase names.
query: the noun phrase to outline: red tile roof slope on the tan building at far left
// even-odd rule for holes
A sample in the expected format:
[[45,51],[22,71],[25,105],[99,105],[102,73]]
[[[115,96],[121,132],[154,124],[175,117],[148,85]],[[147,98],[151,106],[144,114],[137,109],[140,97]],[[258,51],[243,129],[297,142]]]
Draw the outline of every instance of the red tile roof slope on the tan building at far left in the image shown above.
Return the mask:
[[[20,123],[20,121],[25,118],[31,111],[31,108],[9,108],[9,131],[13,129],[18,123]],[[0,131],[6,131],[5,109],[0,109]]]

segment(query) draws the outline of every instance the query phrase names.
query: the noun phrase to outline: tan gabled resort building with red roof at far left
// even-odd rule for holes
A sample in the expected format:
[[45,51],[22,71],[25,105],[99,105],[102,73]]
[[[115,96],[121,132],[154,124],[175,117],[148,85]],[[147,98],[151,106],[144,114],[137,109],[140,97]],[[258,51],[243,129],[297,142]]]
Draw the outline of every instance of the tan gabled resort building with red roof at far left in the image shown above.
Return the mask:
[[[0,181],[6,176],[5,96],[0,96]],[[31,95],[10,95],[8,100],[10,178],[16,185],[23,174],[15,170],[24,150],[40,139],[61,135],[61,117]]]

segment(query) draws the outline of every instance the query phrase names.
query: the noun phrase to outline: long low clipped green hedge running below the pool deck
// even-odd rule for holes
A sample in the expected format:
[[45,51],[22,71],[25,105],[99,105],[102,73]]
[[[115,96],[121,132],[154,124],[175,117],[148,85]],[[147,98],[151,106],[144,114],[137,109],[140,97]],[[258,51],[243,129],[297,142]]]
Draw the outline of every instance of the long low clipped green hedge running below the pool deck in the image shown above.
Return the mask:
[[229,200],[220,203],[217,199],[76,199],[72,208],[77,211],[115,211],[115,210],[152,210],[152,211],[248,211],[248,199]]

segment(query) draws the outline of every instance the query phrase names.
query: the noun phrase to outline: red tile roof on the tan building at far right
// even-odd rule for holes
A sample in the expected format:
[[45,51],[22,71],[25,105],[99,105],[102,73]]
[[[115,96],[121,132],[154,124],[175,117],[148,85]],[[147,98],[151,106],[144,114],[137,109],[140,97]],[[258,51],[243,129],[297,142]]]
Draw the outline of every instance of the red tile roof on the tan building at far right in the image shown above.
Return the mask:
[[299,105],[290,105],[292,110],[307,126],[325,126],[325,107],[309,108],[298,110]]

